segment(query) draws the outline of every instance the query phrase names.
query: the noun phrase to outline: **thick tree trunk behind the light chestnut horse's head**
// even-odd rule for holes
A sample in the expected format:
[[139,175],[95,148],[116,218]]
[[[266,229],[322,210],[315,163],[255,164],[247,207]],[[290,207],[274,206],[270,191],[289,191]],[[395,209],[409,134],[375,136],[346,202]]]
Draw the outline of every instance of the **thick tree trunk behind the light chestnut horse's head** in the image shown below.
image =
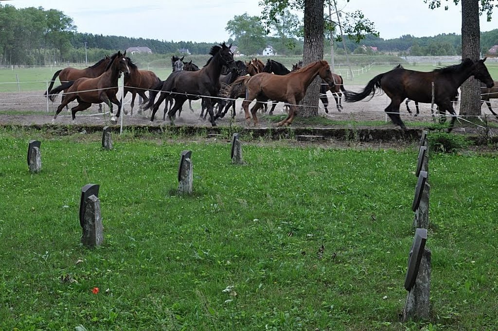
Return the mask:
[[[324,0],[304,1],[303,65],[323,59],[323,3]],[[318,97],[321,82],[320,77],[317,77],[308,86],[306,95],[301,101],[302,107],[299,107],[300,116],[318,115]]]

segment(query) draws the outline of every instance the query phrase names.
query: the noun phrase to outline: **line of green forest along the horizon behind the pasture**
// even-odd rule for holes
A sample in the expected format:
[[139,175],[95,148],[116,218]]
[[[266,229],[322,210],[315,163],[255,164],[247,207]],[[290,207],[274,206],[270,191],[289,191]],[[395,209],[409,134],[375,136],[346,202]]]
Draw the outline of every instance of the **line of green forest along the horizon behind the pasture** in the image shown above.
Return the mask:
[[[237,17],[237,16],[236,16]],[[293,38],[293,47],[282,43],[276,36],[261,36],[264,43],[274,46],[280,55],[302,54],[302,39]],[[0,4],[0,65],[47,65],[56,63],[94,63],[106,54],[125,50],[133,46],[149,47],[155,54],[171,56],[179,49],[188,49],[191,54],[207,54],[210,48],[224,40],[212,43],[193,41],[165,41],[147,38],[130,38],[103,34],[81,33],[73,19],[56,9],[42,7],[15,8]],[[237,37],[229,39],[238,45]],[[330,40],[326,40],[329,44]],[[481,32],[482,52],[498,44],[498,29]],[[376,47],[377,51],[369,46]],[[366,35],[360,44],[346,40],[348,52],[356,54],[404,55],[459,55],[459,34],[438,34],[432,37],[403,35],[394,39],[383,39]],[[344,54],[342,43],[335,43],[337,54]]]

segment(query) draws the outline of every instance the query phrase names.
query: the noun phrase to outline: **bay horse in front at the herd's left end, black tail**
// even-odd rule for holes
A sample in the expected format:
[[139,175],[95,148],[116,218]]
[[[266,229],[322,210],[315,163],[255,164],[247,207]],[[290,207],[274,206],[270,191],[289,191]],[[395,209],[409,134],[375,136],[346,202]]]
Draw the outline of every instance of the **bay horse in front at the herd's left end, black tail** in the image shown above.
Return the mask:
[[[64,92],[65,97],[61,104],[57,107],[52,123],[55,122],[62,108],[73,100],[78,101],[78,105],[71,108],[73,122],[76,120],[76,112],[88,109],[93,103],[99,104],[101,102],[105,102],[109,106],[111,114],[113,114],[113,103],[118,105],[116,117],[120,117],[121,102],[116,98],[116,94],[118,93],[118,78],[122,72],[125,75],[130,73],[126,51],[124,53],[118,51],[118,53],[111,56],[106,70],[100,76],[96,78],[79,78],[56,87],[54,89],[55,93],[62,90],[66,92]],[[115,121],[114,114],[112,121]]]

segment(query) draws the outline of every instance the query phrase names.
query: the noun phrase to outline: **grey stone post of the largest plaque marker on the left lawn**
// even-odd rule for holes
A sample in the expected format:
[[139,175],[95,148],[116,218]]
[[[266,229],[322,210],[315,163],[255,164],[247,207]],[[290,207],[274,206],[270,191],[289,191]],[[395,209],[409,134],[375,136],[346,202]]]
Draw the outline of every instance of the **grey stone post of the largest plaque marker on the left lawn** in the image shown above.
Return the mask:
[[100,199],[92,194],[86,200],[81,243],[93,248],[102,245],[103,242],[104,230],[100,214]]

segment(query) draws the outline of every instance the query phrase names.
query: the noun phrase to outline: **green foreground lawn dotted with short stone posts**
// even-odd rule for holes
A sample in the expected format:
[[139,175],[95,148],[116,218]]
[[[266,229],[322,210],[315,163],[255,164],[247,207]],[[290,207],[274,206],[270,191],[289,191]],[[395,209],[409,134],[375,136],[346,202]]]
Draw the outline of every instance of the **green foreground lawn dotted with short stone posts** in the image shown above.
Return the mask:
[[[415,147],[261,141],[235,166],[228,139],[100,139],[0,131],[0,330],[498,328],[496,155],[431,156],[431,320],[401,324]],[[192,196],[175,194],[185,149]],[[80,245],[87,183],[101,185],[94,250]]]

